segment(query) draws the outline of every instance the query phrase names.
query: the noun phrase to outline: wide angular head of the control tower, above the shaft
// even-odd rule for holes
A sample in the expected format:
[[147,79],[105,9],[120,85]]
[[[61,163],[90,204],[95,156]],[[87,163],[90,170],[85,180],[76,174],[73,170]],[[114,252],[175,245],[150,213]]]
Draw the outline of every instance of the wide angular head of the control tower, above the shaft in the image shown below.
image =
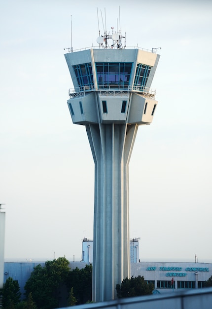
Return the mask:
[[73,123],[149,124],[157,101],[150,89],[159,55],[136,49],[88,49],[65,54],[74,90]]

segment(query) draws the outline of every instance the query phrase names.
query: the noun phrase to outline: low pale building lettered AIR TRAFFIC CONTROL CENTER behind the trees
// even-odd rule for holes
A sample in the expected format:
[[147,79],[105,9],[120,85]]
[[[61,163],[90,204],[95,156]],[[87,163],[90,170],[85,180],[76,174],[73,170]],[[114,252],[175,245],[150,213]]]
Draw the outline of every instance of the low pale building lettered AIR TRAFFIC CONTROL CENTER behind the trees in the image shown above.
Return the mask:
[[[8,277],[17,280],[20,285],[22,298],[24,286],[31,272],[45,262],[5,262],[4,283]],[[71,270],[84,268],[86,262],[70,262]],[[131,276],[143,276],[147,283],[153,283],[156,293],[177,292],[187,289],[205,288],[205,281],[212,276],[211,263],[182,263],[182,262],[140,262],[131,263]],[[172,278],[174,284],[172,285]],[[121,282],[120,282],[121,283]]]

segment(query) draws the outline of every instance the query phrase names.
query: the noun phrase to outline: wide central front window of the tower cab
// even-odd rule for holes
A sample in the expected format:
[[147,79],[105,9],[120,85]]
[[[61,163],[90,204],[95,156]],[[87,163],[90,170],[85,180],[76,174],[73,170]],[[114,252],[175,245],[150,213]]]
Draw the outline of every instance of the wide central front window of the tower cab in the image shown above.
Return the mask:
[[132,63],[96,62],[96,70],[100,88],[128,88]]

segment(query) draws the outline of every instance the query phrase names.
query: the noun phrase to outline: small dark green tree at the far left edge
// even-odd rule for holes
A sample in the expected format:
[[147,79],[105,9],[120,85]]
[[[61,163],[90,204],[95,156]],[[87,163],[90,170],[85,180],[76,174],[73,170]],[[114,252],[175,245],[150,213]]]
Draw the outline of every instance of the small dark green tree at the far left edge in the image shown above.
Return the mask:
[[11,277],[6,279],[2,289],[3,309],[13,309],[20,302],[21,292],[18,281]]

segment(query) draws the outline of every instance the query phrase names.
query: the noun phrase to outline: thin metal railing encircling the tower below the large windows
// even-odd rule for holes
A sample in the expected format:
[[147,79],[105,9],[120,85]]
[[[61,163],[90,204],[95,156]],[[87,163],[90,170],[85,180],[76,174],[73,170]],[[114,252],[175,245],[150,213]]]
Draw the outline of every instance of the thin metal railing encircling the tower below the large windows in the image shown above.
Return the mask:
[[123,85],[101,85],[95,86],[80,86],[69,89],[70,98],[81,98],[86,93],[98,91],[100,96],[129,96],[130,92],[140,93],[142,96],[154,99],[156,90],[144,87],[144,86],[123,86]]

